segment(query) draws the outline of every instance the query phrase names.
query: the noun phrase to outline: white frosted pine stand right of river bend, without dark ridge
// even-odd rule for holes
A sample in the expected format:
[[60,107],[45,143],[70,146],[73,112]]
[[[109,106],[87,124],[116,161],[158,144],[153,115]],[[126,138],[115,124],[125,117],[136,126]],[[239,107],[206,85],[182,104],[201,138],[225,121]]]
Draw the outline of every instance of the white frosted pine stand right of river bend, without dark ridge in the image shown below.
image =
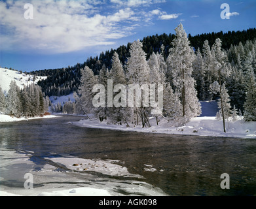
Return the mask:
[[[103,65],[95,73],[87,65],[80,69],[81,83],[74,93],[76,103],[66,103],[64,108],[73,108],[73,112],[94,114],[100,121],[109,123],[141,124],[150,127],[148,118],[155,116],[165,118],[177,126],[187,123],[191,118],[201,114],[199,101],[217,99],[219,112],[217,118],[225,120],[230,116],[236,118],[244,115],[244,120],[256,120],[256,39],[246,40],[230,45],[229,50],[222,48],[221,39],[215,39],[210,46],[204,40],[202,49],[192,48],[183,25],[176,29],[168,57],[164,56],[165,46],[159,52],[153,52],[147,59],[143,50],[143,41],[130,44],[129,57],[123,65],[120,56],[114,52],[111,58],[111,69]],[[124,108],[122,105],[98,108],[92,105],[96,93],[93,87],[102,84],[107,87],[107,80],[113,84],[162,84],[164,86],[163,108],[136,106]],[[119,89],[116,89],[117,101],[122,100]],[[142,96],[141,96],[142,97]],[[115,98],[114,98],[115,99]],[[154,114],[152,113],[154,112]]]

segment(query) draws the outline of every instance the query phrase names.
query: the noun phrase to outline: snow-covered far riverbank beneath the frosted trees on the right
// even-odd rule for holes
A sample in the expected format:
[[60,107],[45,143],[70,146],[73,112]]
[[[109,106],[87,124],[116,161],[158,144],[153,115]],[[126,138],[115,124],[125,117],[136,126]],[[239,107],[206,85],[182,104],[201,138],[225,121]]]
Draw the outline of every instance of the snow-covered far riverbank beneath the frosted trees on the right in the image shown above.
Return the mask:
[[238,120],[229,123],[226,121],[227,133],[223,131],[223,121],[217,120],[215,117],[197,117],[193,118],[189,123],[181,127],[172,127],[168,121],[163,118],[159,124],[156,125],[156,119],[150,119],[151,127],[141,128],[138,126],[126,127],[123,125],[107,124],[106,121],[99,120],[81,120],[73,124],[81,127],[90,127],[98,129],[113,129],[120,131],[137,131],[145,133],[164,133],[172,135],[196,135],[196,136],[210,136],[210,137],[232,137],[232,138],[256,138],[256,122],[245,122]]

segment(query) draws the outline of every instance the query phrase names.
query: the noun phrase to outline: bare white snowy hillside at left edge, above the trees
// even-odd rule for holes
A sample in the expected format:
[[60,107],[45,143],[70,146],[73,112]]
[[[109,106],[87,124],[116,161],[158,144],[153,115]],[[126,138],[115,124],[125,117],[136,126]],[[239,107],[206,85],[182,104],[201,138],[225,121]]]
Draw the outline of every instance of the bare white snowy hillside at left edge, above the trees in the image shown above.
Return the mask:
[[25,73],[20,73],[17,71],[11,71],[9,69],[0,68],[0,86],[3,89],[5,95],[9,91],[9,85],[12,80],[15,80],[16,84],[23,88],[25,85],[32,84],[33,82],[37,84],[39,80],[46,79],[47,77],[35,76],[35,81],[33,81],[33,76]]

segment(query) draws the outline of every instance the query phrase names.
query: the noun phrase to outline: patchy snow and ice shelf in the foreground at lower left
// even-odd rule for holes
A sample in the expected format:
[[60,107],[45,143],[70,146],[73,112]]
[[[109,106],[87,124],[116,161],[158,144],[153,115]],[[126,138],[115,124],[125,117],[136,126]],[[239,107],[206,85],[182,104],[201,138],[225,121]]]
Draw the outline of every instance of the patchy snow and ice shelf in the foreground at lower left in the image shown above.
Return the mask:
[[[39,170],[30,160],[33,152],[0,148],[0,196],[110,196],[110,195],[166,195],[158,187],[137,181],[142,176],[130,174],[119,160],[82,159],[73,156],[45,157],[45,161],[56,162],[64,171],[46,163]],[[82,167],[80,167],[82,163]],[[79,170],[77,166],[79,164]],[[86,164],[86,165],[84,165]],[[98,167],[97,167],[98,165]],[[104,167],[103,167],[104,165]],[[85,167],[94,167],[83,171]],[[105,169],[107,167],[107,169]],[[99,177],[94,172],[109,176]],[[33,175],[33,189],[25,189],[24,174]],[[133,180],[115,179],[114,176],[133,177]],[[20,187],[9,187],[7,182],[20,183]],[[5,182],[6,184],[3,184]]]

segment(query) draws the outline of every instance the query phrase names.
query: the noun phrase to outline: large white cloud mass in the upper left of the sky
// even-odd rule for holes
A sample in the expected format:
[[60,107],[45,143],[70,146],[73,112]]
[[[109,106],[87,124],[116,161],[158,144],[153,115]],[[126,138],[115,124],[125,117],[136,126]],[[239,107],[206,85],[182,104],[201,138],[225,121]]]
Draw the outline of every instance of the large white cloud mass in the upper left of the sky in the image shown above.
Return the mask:
[[131,8],[99,12],[104,1],[32,0],[33,20],[24,18],[25,4],[26,0],[0,2],[1,50],[73,52],[113,44],[135,28]]

